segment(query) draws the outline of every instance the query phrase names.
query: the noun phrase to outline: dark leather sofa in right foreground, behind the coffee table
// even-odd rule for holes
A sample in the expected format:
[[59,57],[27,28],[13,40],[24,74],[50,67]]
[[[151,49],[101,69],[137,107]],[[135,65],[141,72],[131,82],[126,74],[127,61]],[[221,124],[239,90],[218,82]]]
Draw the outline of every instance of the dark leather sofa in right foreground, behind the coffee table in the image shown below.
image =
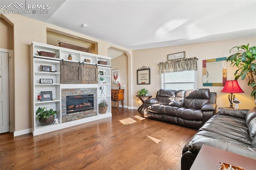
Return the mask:
[[182,170],[190,169],[203,144],[256,159],[256,107],[221,108],[184,146]]

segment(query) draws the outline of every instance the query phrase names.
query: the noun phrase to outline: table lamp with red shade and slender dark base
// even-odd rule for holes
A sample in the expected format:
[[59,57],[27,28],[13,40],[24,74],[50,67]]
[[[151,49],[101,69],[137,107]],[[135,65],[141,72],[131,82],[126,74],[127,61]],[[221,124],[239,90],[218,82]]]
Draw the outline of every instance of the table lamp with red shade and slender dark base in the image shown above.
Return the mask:
[[230,93],[228,95],[228,100],[230,102],[230,108],[233,108],[233,102],[232,101],[236,97],[235,95],[233,95],[233,93],[244,93],[244,91],[239,86],[237,80],[228,80],[228,81],[226,81],[226,84],[225,84],[224,88],[220,92]]

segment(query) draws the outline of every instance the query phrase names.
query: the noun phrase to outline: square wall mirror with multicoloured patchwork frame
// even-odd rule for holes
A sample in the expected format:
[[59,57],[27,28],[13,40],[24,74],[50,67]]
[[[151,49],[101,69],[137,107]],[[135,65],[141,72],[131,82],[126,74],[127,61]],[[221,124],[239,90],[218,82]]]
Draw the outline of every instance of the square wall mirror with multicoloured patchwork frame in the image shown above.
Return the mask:
[[203,60],[203,86],[224,86],[227,81],[226,57]]

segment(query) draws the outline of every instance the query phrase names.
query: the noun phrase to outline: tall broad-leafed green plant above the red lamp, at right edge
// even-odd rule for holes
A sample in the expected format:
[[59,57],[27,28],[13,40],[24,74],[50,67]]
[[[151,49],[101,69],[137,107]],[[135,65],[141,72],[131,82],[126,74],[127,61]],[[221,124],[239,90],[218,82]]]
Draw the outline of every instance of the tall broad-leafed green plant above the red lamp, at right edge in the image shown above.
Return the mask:
[[[237,80],[239,77],[244,80],[247,75],[249,78],[248,85],[251,86],[253,89],[251,97],[254,97],[254,99],[256,99],[256,82],[253,78],[256,76],[256,47],[249,47],[249,44],[247,44],[233,48],[237,48],[238,51],[230,55],[227,58],[227,61],[231,61],[231,65],[233,64],[233,67],[235,65],[236,67],[238,67],[238,69],[234,73],[235,80]],[[230,49],[229,53],[232,49]],[[238,71],[240,72],[238,73]]]

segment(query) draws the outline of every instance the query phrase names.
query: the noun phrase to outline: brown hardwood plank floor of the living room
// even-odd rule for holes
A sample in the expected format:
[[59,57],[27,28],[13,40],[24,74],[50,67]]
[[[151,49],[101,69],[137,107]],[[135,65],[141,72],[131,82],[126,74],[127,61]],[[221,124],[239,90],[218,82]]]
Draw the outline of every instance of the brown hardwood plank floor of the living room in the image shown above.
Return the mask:
[[[47,134],[0,134],[0,169],[179,170],[182,148],[197,130],[135,115],[142,117],[112,107],[112,118]],[[137,122],[120,123],[128,117]]]

